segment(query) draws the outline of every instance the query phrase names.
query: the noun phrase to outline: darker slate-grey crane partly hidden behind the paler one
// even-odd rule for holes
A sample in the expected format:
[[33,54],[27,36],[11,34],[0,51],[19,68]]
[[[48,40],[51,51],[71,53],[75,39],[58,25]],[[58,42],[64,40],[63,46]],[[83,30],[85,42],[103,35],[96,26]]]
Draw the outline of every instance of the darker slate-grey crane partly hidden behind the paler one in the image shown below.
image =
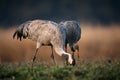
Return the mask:
[[63,26],[66,31],[66,48],[67,44],[69,44],[72,52],[78,50],[79,57],[79,45],[77,42],[81,38],[81,27],[77,21],[61,21],[59,25]]

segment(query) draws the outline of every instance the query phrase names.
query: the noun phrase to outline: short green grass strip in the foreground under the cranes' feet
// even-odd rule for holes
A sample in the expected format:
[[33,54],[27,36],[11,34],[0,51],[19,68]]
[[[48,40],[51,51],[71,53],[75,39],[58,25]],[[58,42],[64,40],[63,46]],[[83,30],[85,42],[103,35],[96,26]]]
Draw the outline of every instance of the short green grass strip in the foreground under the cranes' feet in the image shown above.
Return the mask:
[[119,80],[120,62],[85,62],[76,66],[35,63],[0,65],[0,80]]

